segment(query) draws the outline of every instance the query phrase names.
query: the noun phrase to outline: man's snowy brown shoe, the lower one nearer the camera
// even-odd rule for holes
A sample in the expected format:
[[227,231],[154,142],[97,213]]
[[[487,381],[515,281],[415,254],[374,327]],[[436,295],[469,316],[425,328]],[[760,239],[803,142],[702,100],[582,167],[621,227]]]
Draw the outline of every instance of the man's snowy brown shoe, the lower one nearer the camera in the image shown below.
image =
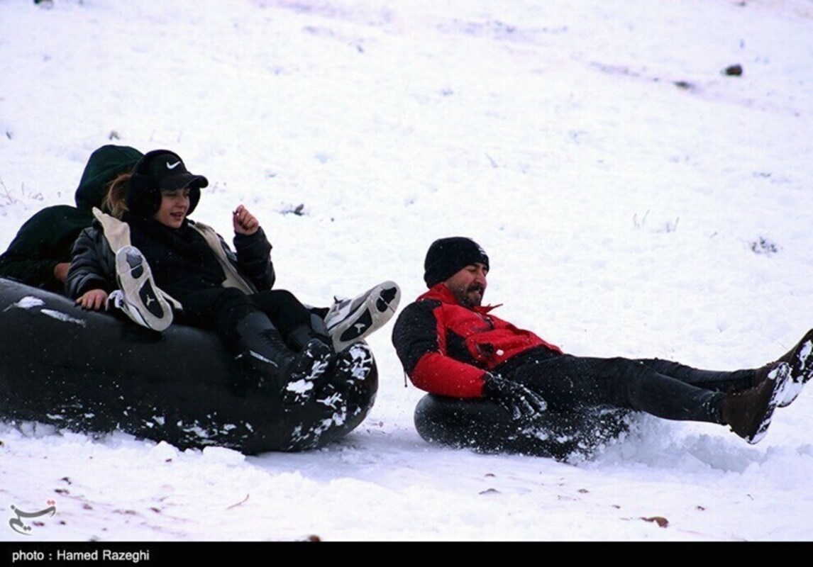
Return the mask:
[[720,418],[748,443],[759,443],[771,425],[773,410],[785,397],[789,381],[790,366],[782,362],[767,373],[759,386],[728,392],[720,407]]

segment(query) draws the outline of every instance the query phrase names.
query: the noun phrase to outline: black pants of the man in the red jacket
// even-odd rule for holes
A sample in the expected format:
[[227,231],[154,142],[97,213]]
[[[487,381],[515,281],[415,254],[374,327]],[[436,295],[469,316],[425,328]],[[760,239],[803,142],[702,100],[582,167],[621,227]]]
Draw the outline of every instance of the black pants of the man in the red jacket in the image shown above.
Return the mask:
[[698,370],[657,358],[588,358],[537,348],[495,369],[542,396],[550,409],[611,405],[665,419],[720,423],[724,392],[751,387],[755,370]]

